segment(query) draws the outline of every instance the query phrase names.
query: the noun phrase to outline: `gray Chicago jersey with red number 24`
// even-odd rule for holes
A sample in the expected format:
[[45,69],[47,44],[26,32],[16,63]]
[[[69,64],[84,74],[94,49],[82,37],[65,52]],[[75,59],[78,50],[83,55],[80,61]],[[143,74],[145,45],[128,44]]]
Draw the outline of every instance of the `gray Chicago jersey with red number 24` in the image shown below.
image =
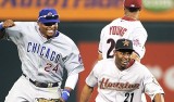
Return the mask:
[[61,84],[63,68],[69,75],[84,71],[76,44],[60,31],[47,39],[41,36],[37,23],[15,22],[5,34],[4,38],[16,44],[22,71],[32,80]]

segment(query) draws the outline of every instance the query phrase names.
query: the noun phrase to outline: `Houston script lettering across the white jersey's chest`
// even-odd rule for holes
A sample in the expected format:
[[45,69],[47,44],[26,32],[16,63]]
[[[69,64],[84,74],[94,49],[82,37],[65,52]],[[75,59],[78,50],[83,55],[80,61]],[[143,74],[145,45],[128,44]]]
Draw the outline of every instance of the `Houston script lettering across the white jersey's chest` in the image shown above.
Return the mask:
[[100,89],[110,89],[117,91],[130,91],[139,88],[139,84],[111,82],[109,78],[102,78],[99,84]]

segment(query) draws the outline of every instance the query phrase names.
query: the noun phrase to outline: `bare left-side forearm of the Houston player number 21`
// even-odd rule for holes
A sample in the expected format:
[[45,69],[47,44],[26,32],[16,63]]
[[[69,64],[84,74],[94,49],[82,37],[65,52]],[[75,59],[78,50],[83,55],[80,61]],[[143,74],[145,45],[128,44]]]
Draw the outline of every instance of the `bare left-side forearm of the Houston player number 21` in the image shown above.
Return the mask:
[[94,87],[90,87],[85,84],[83,91],[80,93],[80,101],[79,102],[88,102],[92,91],[94,91]]

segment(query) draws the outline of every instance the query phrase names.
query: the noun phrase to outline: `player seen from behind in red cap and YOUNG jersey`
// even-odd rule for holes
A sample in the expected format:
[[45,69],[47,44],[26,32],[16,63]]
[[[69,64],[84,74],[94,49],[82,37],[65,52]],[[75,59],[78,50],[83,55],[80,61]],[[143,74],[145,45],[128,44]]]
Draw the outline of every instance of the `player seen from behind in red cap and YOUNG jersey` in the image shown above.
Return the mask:
[[[138,21],[141,10],[141,0],[124,0],[124,16],[112,21],[100,34],[99,60],[113,59],[114,46],[117,39],[126,38],[133,40],[134,50],[132,58],[140,61],[145,55],[145,43],[147,41],[147,31]],[[142,101],[146,97],[142,94]]]

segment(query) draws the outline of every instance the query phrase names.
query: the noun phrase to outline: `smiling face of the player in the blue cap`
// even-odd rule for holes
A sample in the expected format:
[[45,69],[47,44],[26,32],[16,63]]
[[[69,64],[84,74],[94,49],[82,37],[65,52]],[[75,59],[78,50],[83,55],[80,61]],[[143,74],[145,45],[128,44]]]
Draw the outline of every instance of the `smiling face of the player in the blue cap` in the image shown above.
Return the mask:
[[58,23],[38,23],[40,33],[46,38],[51,38],[58,29]]

